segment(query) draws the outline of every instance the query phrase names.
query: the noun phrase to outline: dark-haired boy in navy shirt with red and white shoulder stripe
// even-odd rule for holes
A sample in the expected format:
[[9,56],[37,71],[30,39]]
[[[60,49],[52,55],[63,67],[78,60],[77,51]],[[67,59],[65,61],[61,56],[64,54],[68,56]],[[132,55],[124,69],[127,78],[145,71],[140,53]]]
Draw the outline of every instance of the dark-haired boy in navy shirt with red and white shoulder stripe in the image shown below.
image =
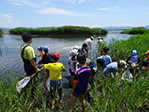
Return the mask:
[[72,108],[75,111],[75,103],[78,96],[80,96],[80,102],[82,104],[82,112],[85,112],[86,103],[84,101],[84,96],[87,90],[87,85],[89,78],[91,77],[91,69],[89,66],[86,66],[86,56],[84,53],[79,53],[77,55],[77,61],[79,62],[80,68],[77,69],[74,83],[71,90],[72,96]]

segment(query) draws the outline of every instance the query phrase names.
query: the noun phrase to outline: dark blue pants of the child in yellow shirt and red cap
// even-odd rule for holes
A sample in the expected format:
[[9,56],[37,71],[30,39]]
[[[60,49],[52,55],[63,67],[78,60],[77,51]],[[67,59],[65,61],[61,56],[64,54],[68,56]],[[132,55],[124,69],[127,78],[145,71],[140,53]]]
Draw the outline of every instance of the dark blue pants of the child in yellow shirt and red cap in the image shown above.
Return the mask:
[[58,91],[59,96],[61,96],[62,95],[62,79],[58,81],[50,80],[51,99],[55,98],[56,90]]

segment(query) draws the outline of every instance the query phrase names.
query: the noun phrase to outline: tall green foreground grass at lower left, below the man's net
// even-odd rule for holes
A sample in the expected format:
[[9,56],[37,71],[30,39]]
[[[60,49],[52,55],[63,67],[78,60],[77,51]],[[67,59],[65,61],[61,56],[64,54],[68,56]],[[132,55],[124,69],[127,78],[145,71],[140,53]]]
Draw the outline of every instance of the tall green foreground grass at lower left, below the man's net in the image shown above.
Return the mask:
[[[10,81],[11,84],[7,80],[0,83],[0,112],[51,111],[50,93],[45,88],[44,83],[37,83],[36,86],[29,84],[21,90],[21,93],[18,93],[16,90],[18,77],[11,78]],[[31,91],[32,88],[34,88],[34,92]],[[54,111],[62,110],[56,105]]]

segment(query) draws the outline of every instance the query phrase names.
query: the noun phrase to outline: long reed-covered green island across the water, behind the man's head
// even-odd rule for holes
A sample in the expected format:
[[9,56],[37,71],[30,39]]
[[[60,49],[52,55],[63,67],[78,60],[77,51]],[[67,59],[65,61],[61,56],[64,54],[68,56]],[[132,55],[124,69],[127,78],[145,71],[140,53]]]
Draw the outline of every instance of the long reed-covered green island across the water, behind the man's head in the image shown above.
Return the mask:
[[80,26],[24,28],[18,27],[9,30],[10,34],[21,35],[23,32],[30,32],[32,35],[106,35],[107,30],[100,28],[89,28]]

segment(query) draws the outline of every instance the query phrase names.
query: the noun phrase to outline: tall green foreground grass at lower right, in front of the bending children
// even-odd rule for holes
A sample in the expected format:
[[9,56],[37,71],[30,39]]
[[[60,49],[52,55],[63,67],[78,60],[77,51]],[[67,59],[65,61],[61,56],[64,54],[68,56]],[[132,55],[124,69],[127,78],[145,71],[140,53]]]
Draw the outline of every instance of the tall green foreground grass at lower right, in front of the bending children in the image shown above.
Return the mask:
[[[123,85],[120,85],[121,75],[116,76],[112,83],[110,80],[102,79],[99,75],[96,78],[95,89],[92,90],[94,102],[90,105],[91,109],[96,112],[148,111],[149,75],[141,75],[132,83],[123,82]],[[102,92],[97,91],[99,87],[102,87]]]

